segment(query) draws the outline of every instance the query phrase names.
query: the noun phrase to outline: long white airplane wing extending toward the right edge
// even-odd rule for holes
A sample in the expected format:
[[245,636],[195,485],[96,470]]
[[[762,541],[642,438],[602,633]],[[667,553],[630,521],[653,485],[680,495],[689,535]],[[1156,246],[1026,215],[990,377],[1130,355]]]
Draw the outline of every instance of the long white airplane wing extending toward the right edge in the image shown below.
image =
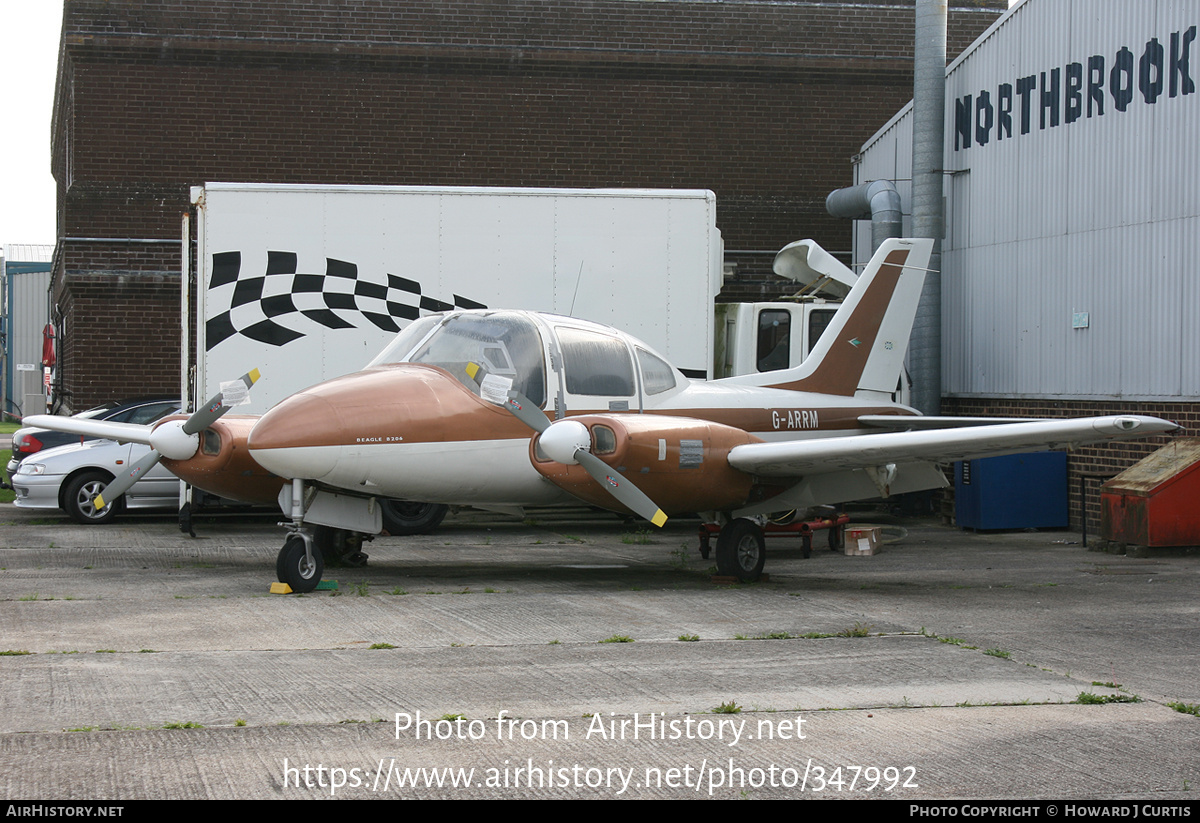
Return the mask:
[[889,463],[949,463],[976,457],[1064,449],[1098,440],[1166,434],[1180,426],[1141,415],[1039,420],[934,431],[881,432],[780,443],[751,443],[730,450],[730,465],[766,477],[797,477]]

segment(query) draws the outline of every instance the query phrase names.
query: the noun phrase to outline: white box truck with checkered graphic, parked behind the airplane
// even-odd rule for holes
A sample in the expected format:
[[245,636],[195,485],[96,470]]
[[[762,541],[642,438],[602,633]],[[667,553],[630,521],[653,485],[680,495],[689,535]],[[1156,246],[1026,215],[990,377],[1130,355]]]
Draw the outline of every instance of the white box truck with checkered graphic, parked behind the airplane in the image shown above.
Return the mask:
[[[192,203],[196,319],[184,323],[181,390],[199,403],[257,367],[263,377],[239,413],[361,368],[436,311],[606,323],[707,379],[798,362],[838,307],[811,296],[722,305],[716,322],[724,244],[710,191],[210,182]],[[785,248],[775,268],[812,294],[845,294],[854,278],[811,241]],[[407,530],[400,512],[390,512],[394,533]],[[404,512],[415,530],[434,516]]]

